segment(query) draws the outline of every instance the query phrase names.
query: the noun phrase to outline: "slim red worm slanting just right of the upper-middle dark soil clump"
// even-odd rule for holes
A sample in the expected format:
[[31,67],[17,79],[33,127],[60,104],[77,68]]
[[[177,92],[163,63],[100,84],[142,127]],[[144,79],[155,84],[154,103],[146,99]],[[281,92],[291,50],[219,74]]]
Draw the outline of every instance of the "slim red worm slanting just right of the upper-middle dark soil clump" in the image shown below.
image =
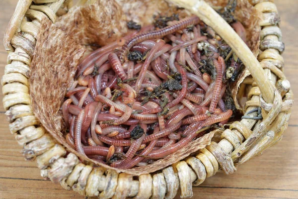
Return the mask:
[[137,79],[137,81],[136,81],[136,86],[135,86],[136,89],[135,89],[135,90],[136,90],[137,94],[140,92],[141,85],[142,85],[142,83],[143,83],[143,81],[144,81],[144,78],[145,78],[145,73],[146,73],[146,71],[147,71],[147,69],[148,69],[148,67],[149,67],[149,64],[150,64],[150,62],[151,62],[151,60],[152,60],[152,58],[153,58],[155,52],[157,52],[157,50],[158,50],[161,46],[163,46],[163,45],[164,45],[164,41],[159,41],[159,42],[157,42],[156,45],[154,45],[154,46],[151,48],[151,50],[149,51],[149,54],[147,55],[147,58],[146,58],[146,60],[145,60],[145,62],[144,62],[144,64],[143,64],[143,66],[142,66],[142,69],[141,69],[141,71],[140,71],[140,73],[139,73],[139,77],[138,77],[138,79]]

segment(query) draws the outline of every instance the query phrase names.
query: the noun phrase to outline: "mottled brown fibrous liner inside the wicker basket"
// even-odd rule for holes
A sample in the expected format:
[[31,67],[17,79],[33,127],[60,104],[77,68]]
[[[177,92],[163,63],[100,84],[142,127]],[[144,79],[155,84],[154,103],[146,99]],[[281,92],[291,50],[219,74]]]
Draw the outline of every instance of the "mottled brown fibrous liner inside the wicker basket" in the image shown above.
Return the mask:
[[[226,5],[227,0],[217,1],[216,4],[213,0],[210,0],[210,3],[212,3],[215,8],[219,8],[219,6]],[[134,7],[139,8],[133,9]],[[95,43],[100,46],[104,46],[105,44],[115,41],[117,38],[125,35],[128,31],[127,21],[133,20],[142,25],[150,24],[153,21],[152,16],[154,14],[157,15],[165,12],[167,15],[178,13],[181,18],[189,15],[187,10],[177,9],[176,6],[160,0],[153,2],[131,0],[106,2],[98,1],[93,5],[73,8],[73,10],[70,10],[69,13],[61,16],[55,25],[50,25],[46,22],[42,24],[41,27],[44,28],[42,31],[44,32],[39,34],[39,38],[37,40],[37,49],[32,62],[33,67],[30,78],[31,99],[34,111],[47,131],[49,131],[54,138],[57,139],[57,141],[64,144],[70,152],[75,153],[81,159],[92,162],[95,165],[103,166],[107,169],[115,169],[110,166],[100,164],[94,160],[85,159],[83,156],[74,151],[68,144],[66,144],[66,127],[62,120],[63,117],[60,107],[64,101],[66,88],[69,88],[74,79],[74,73],[79,59],[83,57],[85,49],[87,49],[86,51],[92,49],[90,44]],[[259,20],[258,14],[246,1],[237,1],[234,13],[233,17],[240,21],[245,28],[247,45],[256,55],[258,52],[260,32],[259,26],[255,25]],[[90,15],[92,15],[93,18],[90,19]],[[103,16],[104,18],[102,18]],[[99,22],[101,24],[100,26],[98,26]],[[92,26],[93,24],[94,26]],[[61,37],[57,37],[57,35],[55,35],[57,32]],[[94,34],[94,32],[96,32],[96,34]],[[53,38],[60,38],[65,39],[60,40],[60,42],[67,41],[69,44],[51,44],[52,47],[59,47],[59,49],[62,49],[62,52],[47,53],[46,55],[48,57],[45,59],[43,55],[45,50],[47,50],[47,43],[45,42],[46,34],[48,34],[46,37],[49,40]],[[82,48],[82,46],[86,47]],[[66,54],[68,54],[67,58],[63,57]],[[64,64],[57,62],[57,57],[61,57],[61,61],[63,61]],[[44,65],[41,63],[44,63]],[[52,64],[53,67],[45,70],[45,67],[49,66],[48,64]],[[241,73],[239,77],[244,79],[249,75],[243,74],[244,72]],[[232,93],[238,93],[236,85],[240,84],[243,79],[239,79],[235,82],[233,86],[236,88],[236,91],[233,90]],[[240,106],[237,108],[240,108]],[[211,132],[200,139],[196,139],[182,150],[168,155],[149,166],[136,167],[129,170],[116,170],[133,175],[141,175],[160,170],[177,162],[178,160],[186,158],[190,154],[210,144],[214,133],[215,132]]]

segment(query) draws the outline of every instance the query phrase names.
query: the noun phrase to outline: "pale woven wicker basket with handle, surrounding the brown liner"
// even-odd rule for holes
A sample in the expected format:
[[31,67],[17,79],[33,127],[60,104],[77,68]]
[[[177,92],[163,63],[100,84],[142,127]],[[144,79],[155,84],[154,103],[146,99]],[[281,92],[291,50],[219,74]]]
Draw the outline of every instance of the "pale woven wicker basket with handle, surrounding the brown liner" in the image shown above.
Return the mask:
[[[278,26],[279,14],[273,0],[248,0],[262,13],[261,53],[258,60],[241,40],[235,39],[232,43],[227,43],[238,53],[254,80],[244,82],[251,85],[249,100],[245,105],[246,112],[261,107],[264,117],[262,121],[256,123],[256,120],[245,118],[234,122],[229,129],[224,130],[220,142],[212,142],[196,157],[188,157],[160,172],[140,175],[138,178],[84,165],[73,153],[66,156],[65,147],[45,132],[34,116],[30,105],[28,78],[30,56],[34,52],[41,18],[47,16],[55,23],[55,13],[61,11],[62,6],[71,6],[72,0],[33,1],[38,5],[31,5],[32,0],[19,0],[4,35],[4,46],[9,54],[8,65],[5,66],[5,74],[1,80],[3,106],[11,133],[24,146],[25,158],[36,158],[41,176],[59,182],[65,189],[104,199],[172,199],[179,189],[182,198],[191,197],[192,186],[200,185],[220,170],[226,174],[235,172],[234,164],[242,164],[261,154],[278,142],[287,129],[293,94],[290,83],[283,74],[284,60],[281,54],[284,44]],[[80,0],[81,3],[85,1]],[[197,14],[225,41],[233,37],[233,31],[226,29],[230,27],[217,26],[222,23],[221,20],[209,20],[216,12],[203,0],[172,1]],[[26,21],[25,16],[32,21]]]

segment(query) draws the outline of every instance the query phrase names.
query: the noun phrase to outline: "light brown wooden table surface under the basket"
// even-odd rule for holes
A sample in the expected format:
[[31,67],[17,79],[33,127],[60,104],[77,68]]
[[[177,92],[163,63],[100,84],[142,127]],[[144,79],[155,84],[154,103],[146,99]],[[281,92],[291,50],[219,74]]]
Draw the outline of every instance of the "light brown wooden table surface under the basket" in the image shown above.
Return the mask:
[[[0,41],[17,0],[1,0]],[[276,0],[282,18],[281,28],[286,52],[283,54],[286,76],[292,90],[298,89],[298,1]],[[7,53],[0,48],[0,76],[4,73]],[[0,96],[2,99],[2,95]],[[200,187],[193,188],[193,199],[298,199],[298,98],[292,110],[289,127],[283,139],[261,157],[255,157],[238,171],[226,176],[218,173]],[[40,177],[35,162],[22,157],[22,149],[9,133],[0,103],[0,199],[72,198],[82,196],[66,191],[60,185]],[[176,197],[177,199],[179,197]]]

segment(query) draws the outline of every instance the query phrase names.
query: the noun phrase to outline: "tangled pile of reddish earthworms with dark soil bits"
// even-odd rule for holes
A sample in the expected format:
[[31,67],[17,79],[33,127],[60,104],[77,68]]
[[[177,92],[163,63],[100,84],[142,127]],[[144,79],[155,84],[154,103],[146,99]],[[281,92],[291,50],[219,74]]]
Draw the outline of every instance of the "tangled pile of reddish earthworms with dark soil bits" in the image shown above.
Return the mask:
[[[243,36],[241,23],[233,25]],[[131,30],[79,64],[62,106],[67,143],[122,169],[180,150],[231,117],[225,76],[240,65],[232,57],[197,16]]]

